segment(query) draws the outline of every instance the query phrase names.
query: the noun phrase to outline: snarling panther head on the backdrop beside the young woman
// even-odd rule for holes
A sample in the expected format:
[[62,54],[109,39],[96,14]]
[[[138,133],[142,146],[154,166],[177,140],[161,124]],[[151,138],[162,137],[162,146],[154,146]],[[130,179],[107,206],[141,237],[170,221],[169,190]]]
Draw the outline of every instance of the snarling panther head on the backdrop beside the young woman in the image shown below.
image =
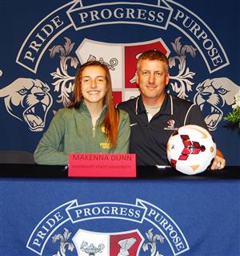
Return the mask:
[[0,97],[11,116],[25,121],[32,132],[41,132],[53,104],[49,91],[39,79],[18,78],[0,90]]

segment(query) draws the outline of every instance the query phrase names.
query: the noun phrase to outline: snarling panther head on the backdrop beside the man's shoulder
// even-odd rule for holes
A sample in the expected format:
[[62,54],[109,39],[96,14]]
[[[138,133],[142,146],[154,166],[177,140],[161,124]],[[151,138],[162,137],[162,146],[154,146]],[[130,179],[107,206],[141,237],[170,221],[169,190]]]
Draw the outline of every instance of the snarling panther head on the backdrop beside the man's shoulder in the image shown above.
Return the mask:
[[234,95],[239,87],[226,77],[206,79],[196,87],[198,93],[194,96],[194,103],[206,112],[205,122],[214,131],[222,120],[222,107],[234,103]]

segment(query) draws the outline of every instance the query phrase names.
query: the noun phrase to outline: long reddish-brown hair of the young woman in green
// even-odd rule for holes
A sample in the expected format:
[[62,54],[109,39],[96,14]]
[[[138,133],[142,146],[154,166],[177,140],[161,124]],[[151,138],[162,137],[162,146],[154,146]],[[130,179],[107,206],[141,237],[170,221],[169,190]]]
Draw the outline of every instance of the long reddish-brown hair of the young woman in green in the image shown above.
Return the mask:
[[83,64],[75,76],[75,82],[74,82],[74,93],[73,93],[73,99],[71,100],[68,108],[79,108],[82,104],[83,97],[82,97],[82,71],[86,67],[90,66],[98,66],[102,67],[106,72],[106,86],[107,91],[106,95],[103,100],[103,104],[106,104],[106,115],[102,121],[102,124],[104,124],[106,128],[106,136],[108,137],[108,140],[110,141],[111,146],[114,148],[117,144],[118,139],[118,120],[119,120],[119,113],[116,108],[114,108],[113,103],[113,96],[112,96],[112,82],[110,78],[110,71],[108,67],[100,63],[99,61],[89,61],[85,64]]

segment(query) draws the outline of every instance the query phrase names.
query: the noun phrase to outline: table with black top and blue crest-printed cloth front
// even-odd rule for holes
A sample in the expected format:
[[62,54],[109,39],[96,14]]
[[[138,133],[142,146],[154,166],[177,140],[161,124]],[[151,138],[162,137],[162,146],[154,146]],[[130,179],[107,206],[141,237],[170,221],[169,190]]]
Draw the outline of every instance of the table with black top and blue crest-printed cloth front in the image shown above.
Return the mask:
[[136,179],[0,170],[0,255],[122,256],[126,244],[130,255],[240,255],[238,167],[195,177],[139,167]]

